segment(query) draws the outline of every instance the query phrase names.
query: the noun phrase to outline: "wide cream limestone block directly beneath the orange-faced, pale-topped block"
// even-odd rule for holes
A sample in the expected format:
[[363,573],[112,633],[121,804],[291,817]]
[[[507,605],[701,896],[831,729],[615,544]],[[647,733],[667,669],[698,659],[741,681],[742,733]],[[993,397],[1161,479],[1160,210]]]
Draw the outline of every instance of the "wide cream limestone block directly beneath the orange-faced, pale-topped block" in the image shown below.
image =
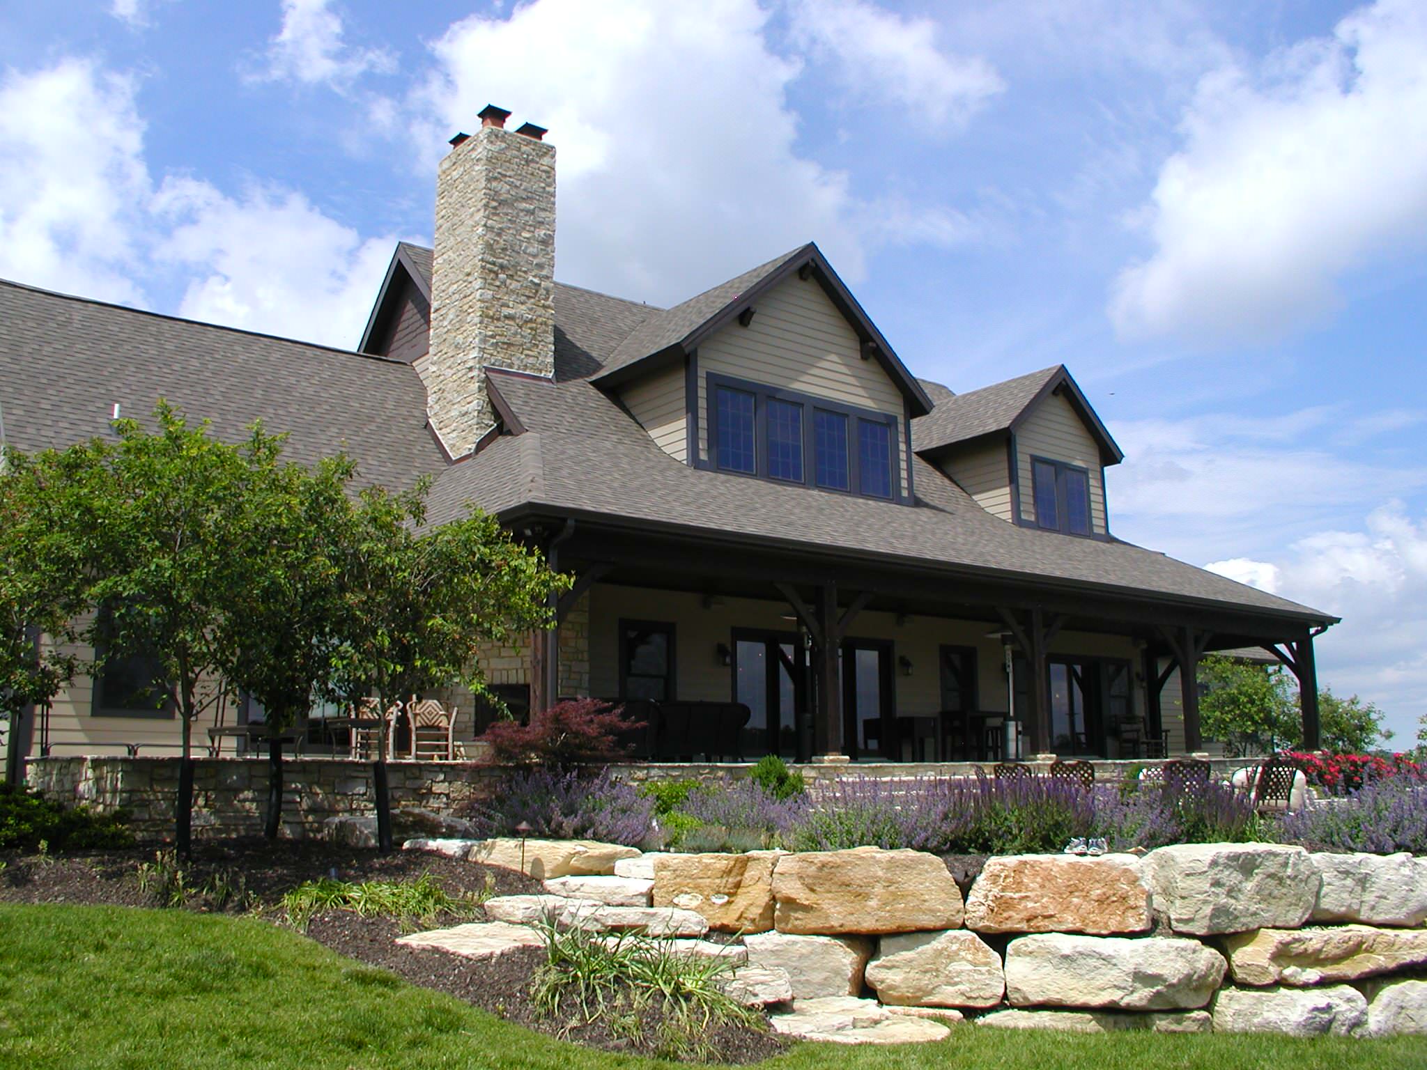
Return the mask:
[[1016,1007],[1203,1007],[1224,956],[1199,940],[1043,933],[1006,947],[1006,999]]

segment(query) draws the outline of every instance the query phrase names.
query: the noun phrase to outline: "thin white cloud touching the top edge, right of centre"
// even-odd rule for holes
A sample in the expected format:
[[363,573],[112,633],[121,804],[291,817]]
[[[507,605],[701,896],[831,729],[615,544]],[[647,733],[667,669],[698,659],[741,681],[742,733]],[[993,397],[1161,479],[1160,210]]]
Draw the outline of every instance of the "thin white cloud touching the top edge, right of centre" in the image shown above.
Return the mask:
[[965,123],[1006,83],[980,57],[938,47],[930,19],[893,14],[866,0],[793,0],[793,40],[832,61],[852,91],[910,108],[933,126]]

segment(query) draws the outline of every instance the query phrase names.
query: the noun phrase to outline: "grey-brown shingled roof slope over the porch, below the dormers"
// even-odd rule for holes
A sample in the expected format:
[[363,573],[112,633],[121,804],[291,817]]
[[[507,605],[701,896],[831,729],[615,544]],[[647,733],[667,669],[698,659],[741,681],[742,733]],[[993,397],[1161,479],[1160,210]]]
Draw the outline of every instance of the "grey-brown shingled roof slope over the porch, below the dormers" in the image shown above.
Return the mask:
[[1009,524],[933,465],[915,461],[915,505],[896,505],[685,465],[586,381],[512,372],[488,381],[524,432],[502,435],[441,474],[430,524],[468,504],[512,518],[549,512],[762,548],[976,572],[1022,584],[1190,601],[1300,625],[1337,618],[1119,539],[1083,539]]

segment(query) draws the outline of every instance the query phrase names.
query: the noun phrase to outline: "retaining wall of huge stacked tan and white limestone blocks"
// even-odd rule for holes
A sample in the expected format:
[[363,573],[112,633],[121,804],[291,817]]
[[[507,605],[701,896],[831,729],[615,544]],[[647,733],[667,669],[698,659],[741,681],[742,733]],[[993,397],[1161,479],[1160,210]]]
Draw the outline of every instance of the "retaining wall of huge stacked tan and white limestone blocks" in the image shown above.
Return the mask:
[[492,920],[726,933],[731,943],[706,947],[793,1036],[903,1036],[889,1024],[902,1016],[1083,1033],[1427,1034],[1427,859],[1408,855],[1212,843],[993,857],[973,873],[879,847],[407,847],[545,880],[548,895],[489,900]]

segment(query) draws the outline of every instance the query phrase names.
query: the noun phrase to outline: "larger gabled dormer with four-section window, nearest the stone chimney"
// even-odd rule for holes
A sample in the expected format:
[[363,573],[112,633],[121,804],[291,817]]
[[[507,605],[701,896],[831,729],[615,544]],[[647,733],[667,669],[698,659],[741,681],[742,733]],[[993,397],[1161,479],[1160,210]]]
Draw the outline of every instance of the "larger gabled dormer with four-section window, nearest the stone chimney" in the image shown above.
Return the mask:
[[684,464],[912,501],[930,399],[816,245],[651,315],[595,382]]

